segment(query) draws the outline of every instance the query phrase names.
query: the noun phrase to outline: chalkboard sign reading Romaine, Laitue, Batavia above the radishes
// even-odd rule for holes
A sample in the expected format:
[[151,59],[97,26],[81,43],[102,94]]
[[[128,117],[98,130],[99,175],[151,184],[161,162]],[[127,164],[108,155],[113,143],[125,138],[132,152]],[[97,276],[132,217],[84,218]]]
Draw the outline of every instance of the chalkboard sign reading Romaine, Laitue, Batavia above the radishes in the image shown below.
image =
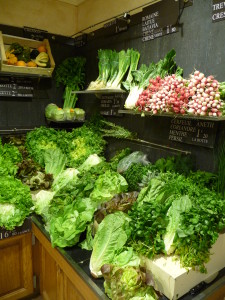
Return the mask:
[[178,31],[179,1],[167,0],[143,8],[142,41],[154,40]]

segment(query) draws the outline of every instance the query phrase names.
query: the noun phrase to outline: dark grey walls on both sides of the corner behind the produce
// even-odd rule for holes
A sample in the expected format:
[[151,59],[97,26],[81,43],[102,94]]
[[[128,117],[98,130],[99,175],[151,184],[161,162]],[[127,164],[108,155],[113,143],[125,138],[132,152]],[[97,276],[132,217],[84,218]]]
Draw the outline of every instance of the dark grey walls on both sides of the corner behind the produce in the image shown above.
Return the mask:
[[[206,75],[213,74],[219,81],[224,81],[225,65],[224,53],[224,21],[212,23],[211,2],[205,0],[194,1],[193,6],[187,7],[181,17],[182,28],[179,32],[158,38],[149,42],[142,42],[141,37],[141,13],[132,16],[129,30],[120,34],[111,34],[107,29],[99,29],[94,34],[89,34],[87,45],[74,48],[68,41],[60,38],[50,39],[51,49],[56,65],[62,59],[71,55],[83,55],[87,58],[86,75],[87,85],[97,78],[97,51],[100,48],[115,50],[134,48],[141,53],[140,64],[157,62],[169,50],[176,50],[176,62],[184,69],[187,77],[194,69],[199,69]],[[94,14],[94,11],[93,11]],[[19,28],[0,25],[0,30],[5,33],[22,36]],[[35,89],[35,97],[27,99],[0,99],[0,128],[33,128],[47,125],[44,118],[44,108],[47,103],[54,102],[62,105],[62,89],[56,88],[54,76],[52,79],[40,79]],[[99,111],[99,99],[95,95],[82,95],[77,106],[86,110],[87,118]],[[216,170],[216,154],[218,145],[224,140],[224,125],[218,123],[217,136],[213,148],[194,146],[184,143],[175,143],[165,137],[170,118],[144,117],[122,115],[119,117],[107,117],[110,121],[125,126],[131,131],[137,132],[138,137],[148,143],[121,143],[111,141],[108,153],[111,155],[118,148],[130,145],[133,149],[143,149],[148,152],[149,158],[155,160],[160,156],[184,151],[191,153],[197,169],[206,171]],[[158,146],[157,146],[158,145]],[[168,150],[169,147],[171,150]],[[178,151],[177,151],[178,150]]]

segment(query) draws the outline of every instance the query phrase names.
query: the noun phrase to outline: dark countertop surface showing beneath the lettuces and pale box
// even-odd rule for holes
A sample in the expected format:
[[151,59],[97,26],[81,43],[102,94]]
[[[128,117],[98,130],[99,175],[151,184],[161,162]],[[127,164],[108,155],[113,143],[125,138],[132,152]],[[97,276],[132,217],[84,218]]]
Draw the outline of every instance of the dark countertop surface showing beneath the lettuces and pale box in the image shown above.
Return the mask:
[[[43,222],[39,216],[32,216],[32,221],[41,230],[41,232],[50,241],[49,234],[44,229]],[[91,257],[91,251],[83,250],[77,245],[67,248],[56,249],[64,256],[65,260],[76,270],[76,272],[83,278],[83,280],[90,286],[92,290],[99,296],[99,299],[108,300],[109,298],[104,293],[104,279],[93,278],[89,270],[89,262]],[[209,284],[202,282],[196,287],[193,287],[189,293],[179,298],[179,300],[204,300],[211,293],[225,285],[225,268],[222,269],[217,277]],[[225,295],[224,295],[225,296]],[[168,300],[167,297],[162,296],[160,300]]]

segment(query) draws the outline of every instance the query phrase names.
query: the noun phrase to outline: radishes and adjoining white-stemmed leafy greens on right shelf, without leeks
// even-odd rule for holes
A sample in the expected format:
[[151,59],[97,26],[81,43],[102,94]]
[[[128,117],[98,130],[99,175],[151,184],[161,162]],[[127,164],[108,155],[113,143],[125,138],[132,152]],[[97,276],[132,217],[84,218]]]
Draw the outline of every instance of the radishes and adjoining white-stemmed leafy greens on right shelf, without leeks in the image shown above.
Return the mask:
[[205,76],[199,70],[182,77],[183,70],[174,61],[172,49],[163,60],[142,64],[132,71],[133,80],[125,101],[126,109],[138,110],[144,115],[172,113],[195,116],[220,117],[224,114],[225,84],[214,76]]

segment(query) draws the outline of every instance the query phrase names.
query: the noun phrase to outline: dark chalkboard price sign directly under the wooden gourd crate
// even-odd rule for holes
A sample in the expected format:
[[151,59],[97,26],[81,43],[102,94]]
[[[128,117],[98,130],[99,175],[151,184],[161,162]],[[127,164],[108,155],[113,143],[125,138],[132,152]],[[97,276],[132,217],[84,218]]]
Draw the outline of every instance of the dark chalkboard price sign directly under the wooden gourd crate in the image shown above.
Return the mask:
[[0,77],[0,96],[33,97],[34,85],[32,79]]

